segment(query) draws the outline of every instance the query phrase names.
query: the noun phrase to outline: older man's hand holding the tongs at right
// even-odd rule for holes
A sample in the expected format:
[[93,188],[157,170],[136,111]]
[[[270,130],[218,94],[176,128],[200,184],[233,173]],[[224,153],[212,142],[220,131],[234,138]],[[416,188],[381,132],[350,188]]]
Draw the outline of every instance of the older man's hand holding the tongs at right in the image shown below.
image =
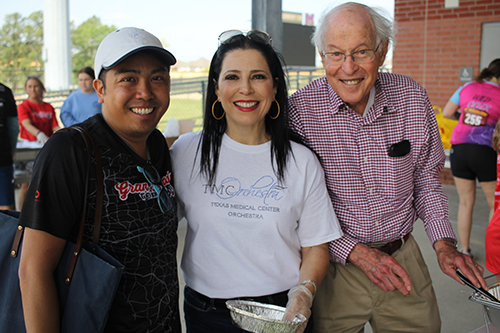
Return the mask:
[[454,243],[448,240],[438,240],[434,243],[439,267],[446,275],[464,284],[457,275],[457,268],[477,287],[487,288],[483,278],[484,268],[466,254],[457,250]]

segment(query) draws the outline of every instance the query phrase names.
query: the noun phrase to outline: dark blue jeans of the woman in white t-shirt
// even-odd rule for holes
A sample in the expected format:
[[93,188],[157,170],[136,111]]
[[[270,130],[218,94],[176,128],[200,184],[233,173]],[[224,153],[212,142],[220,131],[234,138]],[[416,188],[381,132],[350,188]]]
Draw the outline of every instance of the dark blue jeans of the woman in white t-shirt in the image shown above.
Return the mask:
[[[258,297],[255,300],[283,307],[286,305],[286,301],[285,304],[282,301],[273,301],[272,295]],[[201,299],[193,289],[186,286],[184,288],[184,319],[187,333],[248,333],[233,325],[229,310],[225,306],[220,306],[219,303],[214,299]],[[310,332],[312,332],[312,316],[305,330],[305,333]]]

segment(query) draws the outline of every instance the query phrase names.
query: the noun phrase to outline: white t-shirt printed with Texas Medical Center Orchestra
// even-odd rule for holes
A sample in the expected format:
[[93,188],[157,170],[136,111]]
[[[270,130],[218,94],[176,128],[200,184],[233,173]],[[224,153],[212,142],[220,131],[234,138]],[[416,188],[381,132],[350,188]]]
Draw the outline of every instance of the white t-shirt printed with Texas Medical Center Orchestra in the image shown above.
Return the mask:
[[186,284],[211,298],[269,295],[299,283],[301,247],[342,236],[323,169],[292,142],[285,184],[277,183],[270,142],[222,140],[215,186],[195,161],[199,133],[172,146],[179,212],[188,221],[181,269]]

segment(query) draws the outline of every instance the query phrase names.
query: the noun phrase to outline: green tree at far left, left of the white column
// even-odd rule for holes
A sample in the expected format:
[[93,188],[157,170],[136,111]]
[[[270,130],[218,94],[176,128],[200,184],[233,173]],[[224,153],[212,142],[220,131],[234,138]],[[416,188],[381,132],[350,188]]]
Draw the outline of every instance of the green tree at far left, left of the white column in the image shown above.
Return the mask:
[[24,18],[18,13],[6,15],[0,40],[0,80],[16,92],[26,75],[43,73],[42,12]]

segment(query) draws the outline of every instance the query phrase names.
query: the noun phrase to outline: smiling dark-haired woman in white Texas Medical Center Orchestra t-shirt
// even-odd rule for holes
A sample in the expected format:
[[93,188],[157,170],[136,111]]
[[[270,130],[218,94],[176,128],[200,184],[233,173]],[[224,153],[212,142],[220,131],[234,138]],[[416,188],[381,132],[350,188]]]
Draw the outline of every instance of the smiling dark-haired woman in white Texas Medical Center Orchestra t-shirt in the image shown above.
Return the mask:
[[219,36],[204,130],[171,149],[188,221],[181,264],[188,333],[243,332],[231,323],[228,299],[286,306],[287,320],[309,318],[327,243],[342,235],[319,161],[292,141],[285,75],[271,43],[258,30]]

